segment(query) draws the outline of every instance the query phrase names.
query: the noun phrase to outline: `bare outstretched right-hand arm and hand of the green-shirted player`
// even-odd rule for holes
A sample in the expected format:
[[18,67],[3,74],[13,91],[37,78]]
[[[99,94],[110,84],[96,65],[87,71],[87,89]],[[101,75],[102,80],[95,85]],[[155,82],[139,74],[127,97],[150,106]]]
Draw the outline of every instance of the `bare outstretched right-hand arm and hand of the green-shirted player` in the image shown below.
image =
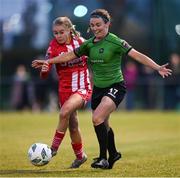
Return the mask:
[[172,70],[167,68],[168,63],[164,65],[159,65],[156,62],[154,62],[150,57],[140,53],[139,51],[135,49],[131,49],[128,53],[128,56],[133,58],[134,60],[151,67],[152,69],[158,71],[158,73],[163,77],[168,77],[169,75],[172,74]]

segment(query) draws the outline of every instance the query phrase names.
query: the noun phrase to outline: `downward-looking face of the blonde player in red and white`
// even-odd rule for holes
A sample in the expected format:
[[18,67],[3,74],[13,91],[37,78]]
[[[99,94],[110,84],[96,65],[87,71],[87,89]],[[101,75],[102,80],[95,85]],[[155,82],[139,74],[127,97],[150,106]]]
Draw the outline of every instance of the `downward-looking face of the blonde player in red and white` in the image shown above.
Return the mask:
[[70,42],[70,30],[64,25],[54,25],[52,30],[53,35],[59,44],[68,44]]

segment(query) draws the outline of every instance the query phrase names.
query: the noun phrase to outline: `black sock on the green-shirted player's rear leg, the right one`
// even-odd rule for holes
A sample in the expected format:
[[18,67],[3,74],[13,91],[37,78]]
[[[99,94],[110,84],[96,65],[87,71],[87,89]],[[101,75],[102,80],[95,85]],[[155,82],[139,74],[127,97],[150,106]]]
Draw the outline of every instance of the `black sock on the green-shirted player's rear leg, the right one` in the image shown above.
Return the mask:
[[115,153],[117,153],[115,140],[114,140],[114,132],[112,128],[108,131],[108,152],[109,156],[113,157]]

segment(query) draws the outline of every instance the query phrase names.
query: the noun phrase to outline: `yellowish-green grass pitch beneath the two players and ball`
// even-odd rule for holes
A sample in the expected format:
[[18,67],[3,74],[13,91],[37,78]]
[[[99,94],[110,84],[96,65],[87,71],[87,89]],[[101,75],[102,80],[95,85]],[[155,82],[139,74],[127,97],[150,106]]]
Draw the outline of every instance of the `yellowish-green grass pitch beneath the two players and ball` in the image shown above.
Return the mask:
[[31,165],[29,146],[51,144],[58,113],[0,113],[0,176],[2,177],[180,177],[180,113],[160,111],[115,112],[110,123],[122,152],[112,170],[92,169],[98,144],[91,112],[79,112],[88,160],[68,169],[74,160],[67,132],[59,152],[43,167]]

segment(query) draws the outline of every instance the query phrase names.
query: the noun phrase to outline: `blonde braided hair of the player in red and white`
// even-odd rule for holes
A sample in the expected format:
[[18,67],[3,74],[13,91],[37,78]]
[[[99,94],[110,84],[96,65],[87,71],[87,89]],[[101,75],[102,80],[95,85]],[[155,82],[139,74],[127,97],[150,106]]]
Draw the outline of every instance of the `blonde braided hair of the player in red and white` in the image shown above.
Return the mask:
[[80,37],[80,32],[78,32],[75,28],[75,25],[72,24],[71,20],[64,16],[64,17],[57,17],[53,21],[53,25],[64,25],[68,29],[70,29],[71,34],[73,37]]

